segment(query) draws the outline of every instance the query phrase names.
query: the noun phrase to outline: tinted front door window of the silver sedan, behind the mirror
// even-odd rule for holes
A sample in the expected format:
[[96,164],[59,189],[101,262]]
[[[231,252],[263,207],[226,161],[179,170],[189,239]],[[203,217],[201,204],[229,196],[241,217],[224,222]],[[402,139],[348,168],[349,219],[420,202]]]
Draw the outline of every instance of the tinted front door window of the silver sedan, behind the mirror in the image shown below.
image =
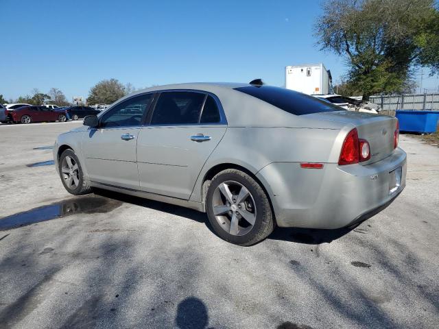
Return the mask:
[[[141,125],[143,114],[147,110],[154,94],[132,97],[112,108],[104,114],[100,122],[100,127],[127,127]],[[138,111],[132,112],[132,108]]]

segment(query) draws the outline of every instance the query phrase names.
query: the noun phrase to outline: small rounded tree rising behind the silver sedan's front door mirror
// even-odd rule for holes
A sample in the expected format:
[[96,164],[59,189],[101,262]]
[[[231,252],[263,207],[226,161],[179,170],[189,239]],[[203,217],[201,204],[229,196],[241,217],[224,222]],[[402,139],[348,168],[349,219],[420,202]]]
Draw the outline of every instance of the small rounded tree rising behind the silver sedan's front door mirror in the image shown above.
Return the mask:
[[117,99],[123,97],[125,94],[125,87],[117,79],[102,80],[93,86],[88,92],[87,103],[110,104]]

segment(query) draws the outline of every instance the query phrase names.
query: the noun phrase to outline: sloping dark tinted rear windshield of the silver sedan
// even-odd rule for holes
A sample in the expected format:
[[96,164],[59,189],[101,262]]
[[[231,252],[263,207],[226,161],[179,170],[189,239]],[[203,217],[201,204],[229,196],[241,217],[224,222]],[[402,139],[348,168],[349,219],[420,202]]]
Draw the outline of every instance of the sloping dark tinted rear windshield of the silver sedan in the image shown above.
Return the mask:
[[335,106],[316,97],[285,88],[273,86],[248,86],[235,88],[235,90],[259,98],[261,101],[266,101],[281,110],[296,115],[344,111],[340,106]]

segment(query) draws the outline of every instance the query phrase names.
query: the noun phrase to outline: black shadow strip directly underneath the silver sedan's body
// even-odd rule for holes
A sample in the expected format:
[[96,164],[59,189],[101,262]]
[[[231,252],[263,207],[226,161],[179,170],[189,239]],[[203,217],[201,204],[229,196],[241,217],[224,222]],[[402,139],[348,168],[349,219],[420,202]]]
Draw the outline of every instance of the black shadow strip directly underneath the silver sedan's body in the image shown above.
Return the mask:
[[[182,206],[176,206],[174,204],[167,204],[165,202],[158,202],[150,199],[143,199],[142,197],[134,197],[132,195],[126,195],[114,191],[108,191],[100,188],[93,188],[93,193],[102,197],[108,197],[110,199],[116,199],[120,202],[126,202],[128,204],[135,204],[136,206],[142,206],[158,211],[167,212],[168,214],[184,217],[198,223],[204,223],[213,234],[217,235],[213,230],[211,223],[207,219],[207,215],[204,212],[199,212],[190,208]],[[295,243],[305,243],[309,245],[317,245],[320,243],[331,243],[336,239],[348,234],[354,228],[340,228],[336,230],[318,230],[311,228],[279,228],[276,227],[272,234],[267,239],[289,241]]]

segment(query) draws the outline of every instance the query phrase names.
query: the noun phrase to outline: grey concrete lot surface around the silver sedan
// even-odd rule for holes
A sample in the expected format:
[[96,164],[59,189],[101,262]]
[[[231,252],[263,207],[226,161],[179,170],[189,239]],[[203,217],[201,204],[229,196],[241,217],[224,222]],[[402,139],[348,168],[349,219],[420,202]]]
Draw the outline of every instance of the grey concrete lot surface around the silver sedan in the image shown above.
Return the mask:
[[26,167],[80,124],[0,125],[0,227],[55,218],[0,228],[0,328],[438,328],[438,148],[401,136],[407,187],[355,230],[237,247],[200,212]]

